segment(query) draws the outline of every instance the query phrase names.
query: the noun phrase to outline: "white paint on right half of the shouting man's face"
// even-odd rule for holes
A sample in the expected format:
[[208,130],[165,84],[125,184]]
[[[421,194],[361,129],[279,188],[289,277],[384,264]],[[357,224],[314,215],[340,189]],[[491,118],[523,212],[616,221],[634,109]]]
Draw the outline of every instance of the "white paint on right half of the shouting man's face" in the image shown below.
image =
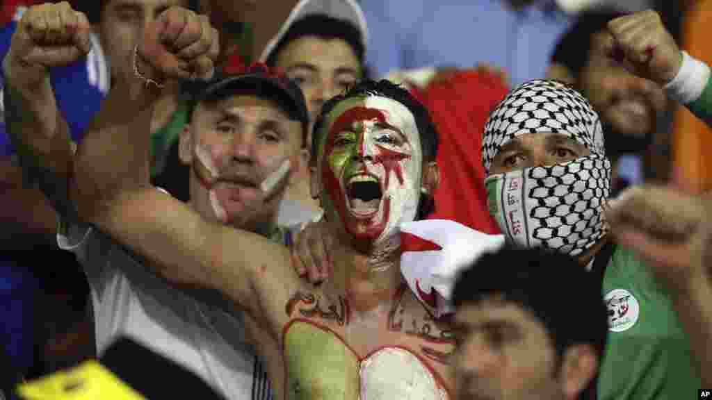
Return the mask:
[[[404,147],[398,147],[377,142],[383,135],[397,135],[397,133],[376,127],[375,121],[369,121],[366,122],[366,132],[363,140],[364,154],[375,156],[379,154],[377,147],[384,147],[410,156],[409,159],[403,159],[399,162],[403,172],[403,184],[398,180],[396,172],[392,171],[388,179],[388,187],[382,188],[383,196],[379,204],[378,213],[375,216],[376,221],[382,221],[386,204],[385,199],[391,199],[389,219],[375,241],[376,243],[382,243],[399,235],[398,227],[401,223],[415,219],[422,186],[423,152],[415,117],[407,107],[395,100],[378,96],[366,98],[365,107],[381,110],[384,113],[386,122],[389,125],[398,127],[408,144],[404,145]],[[383,164],[367,163],[367,169],[370,173],[375,174],[382,184],[385,184],[386,169]]]

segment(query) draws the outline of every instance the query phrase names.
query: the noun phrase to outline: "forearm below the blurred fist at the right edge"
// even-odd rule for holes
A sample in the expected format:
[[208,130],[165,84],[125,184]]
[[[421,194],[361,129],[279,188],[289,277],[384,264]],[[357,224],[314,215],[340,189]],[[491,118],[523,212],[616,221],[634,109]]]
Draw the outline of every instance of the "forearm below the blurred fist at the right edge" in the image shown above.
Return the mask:
[[699,279],[673,293],[678,318],[690,340],[702,387],[712,387],[712,284]]

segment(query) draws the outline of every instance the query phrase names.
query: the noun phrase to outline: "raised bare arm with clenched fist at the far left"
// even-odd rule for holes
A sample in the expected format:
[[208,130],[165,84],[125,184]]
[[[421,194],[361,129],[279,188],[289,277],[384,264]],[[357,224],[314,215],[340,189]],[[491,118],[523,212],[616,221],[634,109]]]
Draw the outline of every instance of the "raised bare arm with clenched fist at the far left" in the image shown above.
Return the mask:
[[19,21],[2,63],[6,129],[24,177],[63,216],[73,214],[68,201],[72,151],[49,70],[88,53],[89,34],[86,16],[67,3],[33,6]]

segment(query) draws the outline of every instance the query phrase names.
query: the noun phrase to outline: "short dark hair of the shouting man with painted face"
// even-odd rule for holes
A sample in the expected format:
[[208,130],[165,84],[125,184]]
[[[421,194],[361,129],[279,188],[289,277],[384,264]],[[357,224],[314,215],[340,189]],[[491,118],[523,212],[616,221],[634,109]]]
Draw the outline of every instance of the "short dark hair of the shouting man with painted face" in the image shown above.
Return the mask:
[[407,90],[389,80],[361,80],[353,85],[346,93],[331,98],[321,108],[319,117],[312,131],[312,159],[315,162],[320,142],[320,132],[324,128],[324,120],[329,112],[342,100],[363,96],[382,96],[395,100],[404,105],[415,117],[415,125],[420,132],[420,143],[423,150],[423,160],[434,161],[438,152],[438,132],[424,105],[413,97]]

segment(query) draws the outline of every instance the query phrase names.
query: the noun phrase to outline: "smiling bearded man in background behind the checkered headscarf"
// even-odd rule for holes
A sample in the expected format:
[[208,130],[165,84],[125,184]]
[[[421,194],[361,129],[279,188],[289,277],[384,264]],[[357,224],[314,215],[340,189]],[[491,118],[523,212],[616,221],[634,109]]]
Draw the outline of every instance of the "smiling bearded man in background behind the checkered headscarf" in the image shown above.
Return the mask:
[[608,21],[623,14],[591,11],[557,43],[550,77],[571,83],[601,117],[606,154],[612,162],[612,194],[643,180],[642,160],[666,110],[662,88],[631,73],[608,48]]

